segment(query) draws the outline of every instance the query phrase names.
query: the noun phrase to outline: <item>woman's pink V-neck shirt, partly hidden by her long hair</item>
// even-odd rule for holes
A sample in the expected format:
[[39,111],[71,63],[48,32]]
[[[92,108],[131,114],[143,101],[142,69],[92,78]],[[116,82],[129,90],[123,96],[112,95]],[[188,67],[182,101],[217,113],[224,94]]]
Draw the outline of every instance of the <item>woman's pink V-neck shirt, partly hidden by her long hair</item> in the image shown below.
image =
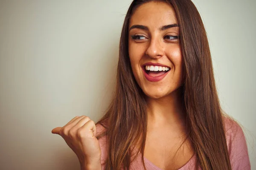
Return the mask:
[[[250,170],[250,160],[243,130],[231,119],[224,118],[224,123],[226,130],[227,148],[232,170]],[[97,125],[96,128],[97,134],[101,133],[103,130],[101,125]],[[107,158],[106,136],[103,136],[101,139],[99,139],[99,145],[102,150],[101,163],[103,164]],[[144,162],[147,170],[162,170],[145,157]],[[195,162],[196,156],[194,155],[179,170],[193,170],[195,169]],[[102,166],[102,170],[105,170],[105,166]],[[138,156],[135,161],[131,162],[130,170],[144,170],[141,156]]]

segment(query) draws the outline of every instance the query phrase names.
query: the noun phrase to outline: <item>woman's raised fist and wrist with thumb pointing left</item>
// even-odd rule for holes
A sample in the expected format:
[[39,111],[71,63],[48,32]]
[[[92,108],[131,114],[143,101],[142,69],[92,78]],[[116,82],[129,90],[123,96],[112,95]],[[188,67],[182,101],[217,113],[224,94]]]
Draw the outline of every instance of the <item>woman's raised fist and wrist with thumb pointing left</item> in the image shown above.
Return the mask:
[[95,123],[87,116],[76,116],[67,125],[52,129],[76,153],[81,170],[101,170],[101,149]]

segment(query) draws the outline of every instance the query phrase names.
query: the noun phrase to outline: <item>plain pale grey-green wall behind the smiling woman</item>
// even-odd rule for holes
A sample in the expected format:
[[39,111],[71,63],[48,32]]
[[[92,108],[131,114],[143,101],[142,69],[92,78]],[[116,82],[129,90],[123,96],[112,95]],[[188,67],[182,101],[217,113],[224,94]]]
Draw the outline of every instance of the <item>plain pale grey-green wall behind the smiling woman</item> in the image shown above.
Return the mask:
[[[196,0],[224,110],[256,170],[256,0]],[[0,169],[79,170],[51,130],[110,104],[131,0],[0,0]]]

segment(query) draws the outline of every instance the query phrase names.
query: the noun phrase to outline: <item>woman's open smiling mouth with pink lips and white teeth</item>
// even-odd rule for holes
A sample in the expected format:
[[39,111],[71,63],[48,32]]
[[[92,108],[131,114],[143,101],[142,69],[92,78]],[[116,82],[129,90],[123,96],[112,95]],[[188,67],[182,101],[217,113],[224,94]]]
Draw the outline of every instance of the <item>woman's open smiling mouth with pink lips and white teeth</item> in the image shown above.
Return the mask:
[[166,74],[168,71],[170,71],[170,68],[162,67],[162,66],[154,66],[154,65],[145,65],[143,67],[143,70],[150,77],[159,77],[159,76],[162,76],[163,74]]

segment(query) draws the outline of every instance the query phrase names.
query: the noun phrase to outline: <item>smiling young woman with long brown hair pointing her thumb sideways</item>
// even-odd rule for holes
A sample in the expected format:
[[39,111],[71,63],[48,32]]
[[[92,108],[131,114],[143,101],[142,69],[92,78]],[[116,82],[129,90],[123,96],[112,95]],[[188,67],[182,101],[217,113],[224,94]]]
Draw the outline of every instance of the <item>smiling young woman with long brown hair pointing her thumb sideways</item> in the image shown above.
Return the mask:
[[191,0],[134,0],[107,113],[96,125],[77,116],[52,133],[84,170],[250,170],[244,133],[221,110]]

